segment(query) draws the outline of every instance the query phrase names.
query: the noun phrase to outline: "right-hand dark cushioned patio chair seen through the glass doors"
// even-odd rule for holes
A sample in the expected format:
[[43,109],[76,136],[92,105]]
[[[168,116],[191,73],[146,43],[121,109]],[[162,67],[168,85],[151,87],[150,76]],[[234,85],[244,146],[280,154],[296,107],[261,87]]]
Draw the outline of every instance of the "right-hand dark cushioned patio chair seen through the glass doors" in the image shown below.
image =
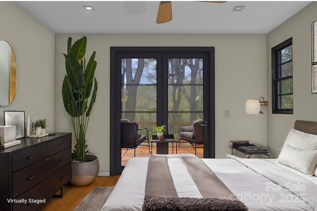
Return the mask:
[[197,148],[203,148],[197,146],[204,144],[204,127],[201,125],[204,125],[204,121],[196,120],[192,126],[182,127],[182,131],[179,133],[180,139],[189,142],[195,149],[195,155]]

